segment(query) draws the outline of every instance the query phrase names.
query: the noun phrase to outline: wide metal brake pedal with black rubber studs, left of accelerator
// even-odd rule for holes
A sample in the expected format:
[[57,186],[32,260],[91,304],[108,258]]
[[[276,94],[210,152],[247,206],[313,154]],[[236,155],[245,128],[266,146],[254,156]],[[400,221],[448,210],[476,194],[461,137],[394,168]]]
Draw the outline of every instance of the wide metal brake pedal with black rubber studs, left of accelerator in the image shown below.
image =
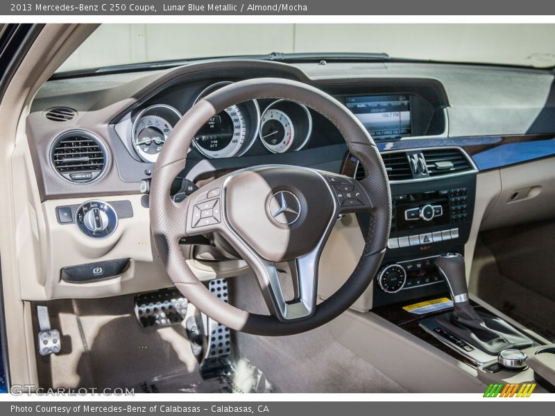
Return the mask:
[[142,327],[180,324],[187,313],[187,298],[176,288],[135,296],[135,316]]

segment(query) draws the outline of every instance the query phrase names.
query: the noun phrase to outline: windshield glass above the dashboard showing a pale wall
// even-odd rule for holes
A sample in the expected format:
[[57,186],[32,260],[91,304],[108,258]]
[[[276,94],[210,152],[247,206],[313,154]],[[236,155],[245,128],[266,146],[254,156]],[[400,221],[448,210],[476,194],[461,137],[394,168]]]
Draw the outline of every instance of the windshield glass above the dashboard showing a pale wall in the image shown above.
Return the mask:
[[281,53],[555,65],[555,24],[103,24],[58,71]]

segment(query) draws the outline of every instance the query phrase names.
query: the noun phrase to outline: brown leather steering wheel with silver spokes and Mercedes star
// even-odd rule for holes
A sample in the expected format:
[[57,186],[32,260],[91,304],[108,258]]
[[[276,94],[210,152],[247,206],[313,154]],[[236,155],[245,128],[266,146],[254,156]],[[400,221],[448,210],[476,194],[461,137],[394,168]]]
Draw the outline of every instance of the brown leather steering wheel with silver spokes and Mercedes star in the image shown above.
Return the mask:
[[[187,161],[196,132],[236,103],[282,98],[327,117],[364,167],[364,179],[312,168],[262,165],[219,177],[182,202],[170,187]],[[368,211],[366,245],[352,275],[333,295],[316,302],[318,263],[339,214]],[[348,309],[364,292],[382,261],[391,223],[391,193],[382,158],[363,125],[339,101],[319,89],[280,78],[256,78],[212,92],[173,128],[153,169],[150,193],[153,239],[168,275],[185,297],[231,329],[283,336],[319,327]],[[220,233],[253,269],[271,315],[223,302],[200,282],[180,250],[185,236]],[[295,263],[294,299],[286,302],[276,263]]]

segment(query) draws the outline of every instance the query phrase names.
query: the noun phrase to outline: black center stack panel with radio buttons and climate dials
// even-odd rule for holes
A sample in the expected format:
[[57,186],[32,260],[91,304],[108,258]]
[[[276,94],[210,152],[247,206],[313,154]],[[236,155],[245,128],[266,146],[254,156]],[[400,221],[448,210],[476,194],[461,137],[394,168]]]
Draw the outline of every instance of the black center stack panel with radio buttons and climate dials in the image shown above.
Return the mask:
[[434,260],[445,252],[463,254],[475,189],[475,174],[392,182],[391,234],[375,278],[373,306],[447,292]]

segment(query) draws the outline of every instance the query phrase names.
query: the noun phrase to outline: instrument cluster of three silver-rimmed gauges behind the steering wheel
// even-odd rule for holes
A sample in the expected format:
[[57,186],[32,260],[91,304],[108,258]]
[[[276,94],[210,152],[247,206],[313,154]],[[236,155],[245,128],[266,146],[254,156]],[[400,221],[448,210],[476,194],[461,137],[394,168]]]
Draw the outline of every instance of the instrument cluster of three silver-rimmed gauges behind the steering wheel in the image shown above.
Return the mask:
[[[203,89],[189,107],[230,83]],[[179,110],[165,103],[150,105],[132,116],[131,141],[137,156],[155,163],[181,117]],[[259,141],[259,147],[268,153],[286,153],[305,148],[311,132],[312,117],[305,105],[281,99],[253,100],[231,105],[213,116],[198,130],[191,148],[203,157],[219,159],[244,155]]]

